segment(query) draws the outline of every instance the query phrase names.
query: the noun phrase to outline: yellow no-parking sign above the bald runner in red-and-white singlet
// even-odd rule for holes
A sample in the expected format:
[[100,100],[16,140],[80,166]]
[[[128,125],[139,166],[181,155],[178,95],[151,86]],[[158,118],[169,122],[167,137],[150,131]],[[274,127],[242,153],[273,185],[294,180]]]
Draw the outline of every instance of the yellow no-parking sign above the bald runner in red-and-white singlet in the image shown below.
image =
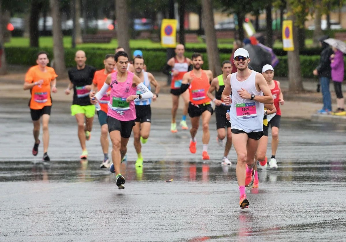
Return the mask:
[[162,19],[161,23],[161,46],[167,48],[176,47],[176,19]]

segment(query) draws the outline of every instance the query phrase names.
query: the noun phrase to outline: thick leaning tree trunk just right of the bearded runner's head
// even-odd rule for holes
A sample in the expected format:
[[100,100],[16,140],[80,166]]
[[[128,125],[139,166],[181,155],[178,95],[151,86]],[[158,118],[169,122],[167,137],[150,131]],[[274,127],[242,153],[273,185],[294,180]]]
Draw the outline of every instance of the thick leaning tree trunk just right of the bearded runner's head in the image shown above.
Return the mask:
[[212,0],[202,0],[202,14],[204,31],[208,33],[206,35],[206,43],[209,69],[212,71],[213,76],[217,76],[221,74],[221,63],[214,28]]

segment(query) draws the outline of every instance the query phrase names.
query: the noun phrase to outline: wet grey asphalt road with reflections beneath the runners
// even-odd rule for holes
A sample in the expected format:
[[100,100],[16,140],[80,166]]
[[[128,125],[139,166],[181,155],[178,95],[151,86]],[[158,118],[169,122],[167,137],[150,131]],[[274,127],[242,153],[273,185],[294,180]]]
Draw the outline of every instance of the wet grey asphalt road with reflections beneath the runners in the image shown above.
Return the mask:
[[44,163],[42,145],[31,155],[33,127],[23,102],[0,105],[0,241],[346,240],[345,125],[282,118],[279,169],[259,171],[260,187],[247,190],[251,205],[240,210],[236,154],[232,148],[231,166],[219,164],[215,117],[211,160],[203,162],[201,130],[191,154],[189,133],[169,132],[170,110],[153,110],[144,168],[134,166],[131,138],[122,164],[126,188],[118,190],[115,176],[99,169],[97,118],[89,160],[81,162],[70,103],[54,103],[52,161]]

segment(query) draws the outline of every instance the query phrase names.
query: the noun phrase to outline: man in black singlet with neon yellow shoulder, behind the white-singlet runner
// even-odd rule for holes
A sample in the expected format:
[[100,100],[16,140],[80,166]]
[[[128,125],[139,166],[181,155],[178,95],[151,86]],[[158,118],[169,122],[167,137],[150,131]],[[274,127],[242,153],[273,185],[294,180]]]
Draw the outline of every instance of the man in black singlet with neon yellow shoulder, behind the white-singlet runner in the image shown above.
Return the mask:
[[[215,77],[211,83],[210,88],[207,92],[208,97],[215,103],[215,115],[216,115],[216,129],[217,129],[217,140],[220,146],[223,146],[223,140],[227,134],[227,142],[225,145],[224,157],[222,157],[222,165],[231,165],[232,163],[227,158],[229,150],[232,146],[232,132],[231,123],[226,119],[226,113],[230,106],[222,102],[221,94],[225,88],[225,81],[229,74],[231,74],[232,65],[230,61],[224,61],[221,64],[222,74]],[[212,92],[215,91],[215,96]]]

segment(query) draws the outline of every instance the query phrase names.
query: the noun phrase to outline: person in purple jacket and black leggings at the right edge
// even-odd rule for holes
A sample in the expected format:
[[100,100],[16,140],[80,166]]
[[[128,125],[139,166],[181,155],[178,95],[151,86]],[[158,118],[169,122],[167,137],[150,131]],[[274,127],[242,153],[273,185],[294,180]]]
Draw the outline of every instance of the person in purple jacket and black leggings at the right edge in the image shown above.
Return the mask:
[[344,96],[341,89],[341,84],[344,80],[344,54],[335,47],[332,47],[332,49],[334,54],[330,55],[331,80],[333,80],[334,83],[338,109],[331,114],[346,115],[344,109]]

